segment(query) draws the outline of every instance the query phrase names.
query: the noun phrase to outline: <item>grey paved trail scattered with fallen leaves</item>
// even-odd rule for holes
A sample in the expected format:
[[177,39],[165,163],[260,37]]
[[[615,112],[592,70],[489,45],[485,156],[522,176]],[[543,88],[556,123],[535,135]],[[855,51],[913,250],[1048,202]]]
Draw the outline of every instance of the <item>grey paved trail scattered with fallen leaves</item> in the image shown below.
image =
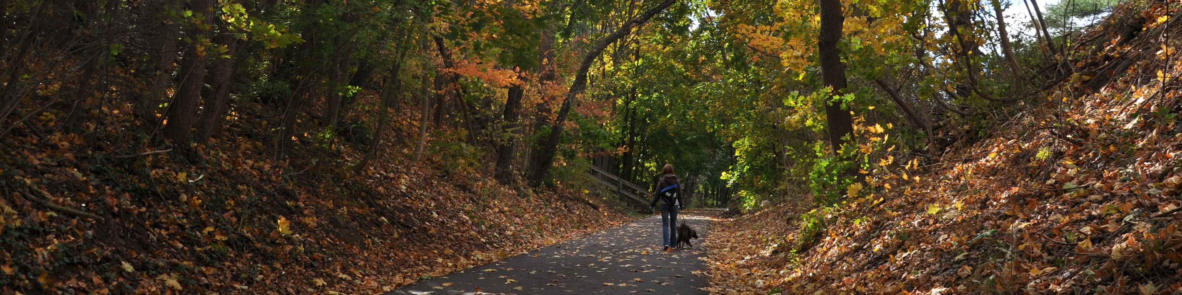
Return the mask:
[[[530,254],[396,289],[409,294],[707,294],[702,274],[709,221],[683,214],[697,230],[694,247],[660,249],[661,216],[599,231]],[[495,271],[487,271],[494,269]],[[610,284],[610,286],[609,286]],[[446,287],[444,287],[446,286]]]

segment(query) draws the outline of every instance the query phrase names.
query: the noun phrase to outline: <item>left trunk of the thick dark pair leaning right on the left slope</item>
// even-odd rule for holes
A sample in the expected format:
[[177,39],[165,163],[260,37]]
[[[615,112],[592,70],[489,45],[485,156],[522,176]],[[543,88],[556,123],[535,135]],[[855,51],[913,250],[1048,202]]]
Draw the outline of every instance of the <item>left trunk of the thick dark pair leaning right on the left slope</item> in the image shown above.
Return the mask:
[[[195,13],[204,15],[203,21],[208,21],[213,15],[214,2],[216,1],[195,0],[191,7]],[[206,52],[197,52],[197,40],[208,38],[209,31],[197,26],[193,32],[193,44],[186,46],[181,64],[181,85],[168,106],[168,124],[164,125],[164,138],[182,148],[188,146],[193,126],[197,123],[197,104],[201,103],[201,87],[206,77]]]

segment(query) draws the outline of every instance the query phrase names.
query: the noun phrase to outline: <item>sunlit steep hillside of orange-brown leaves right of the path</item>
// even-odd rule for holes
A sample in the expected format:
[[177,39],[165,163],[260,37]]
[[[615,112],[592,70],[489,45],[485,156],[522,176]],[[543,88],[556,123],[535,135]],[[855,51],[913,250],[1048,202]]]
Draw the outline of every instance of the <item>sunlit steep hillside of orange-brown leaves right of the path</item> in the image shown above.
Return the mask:
[[721,225],[709,290],[1178,294],[1182,13],[1149,4],[1076,39],[1041,103],[985,139],[926,165],[884,158],[873,194],[851,188],[837,209]]

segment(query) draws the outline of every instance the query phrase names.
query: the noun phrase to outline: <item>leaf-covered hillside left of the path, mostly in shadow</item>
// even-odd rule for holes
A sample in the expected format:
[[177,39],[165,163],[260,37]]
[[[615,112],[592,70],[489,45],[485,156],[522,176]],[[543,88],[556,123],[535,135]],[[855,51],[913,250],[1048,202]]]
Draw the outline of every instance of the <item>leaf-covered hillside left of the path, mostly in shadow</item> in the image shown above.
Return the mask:
[[408,136],[353,173],[352,145],[273,160],[249,119],[195,155],[129,150],[130,112],[102,112],[89,137],[41,137],[46,117],[0,139],[0,294],[381,293],[629,219],[579,186],[533,195],[443,169],[446,152],[416,165]]

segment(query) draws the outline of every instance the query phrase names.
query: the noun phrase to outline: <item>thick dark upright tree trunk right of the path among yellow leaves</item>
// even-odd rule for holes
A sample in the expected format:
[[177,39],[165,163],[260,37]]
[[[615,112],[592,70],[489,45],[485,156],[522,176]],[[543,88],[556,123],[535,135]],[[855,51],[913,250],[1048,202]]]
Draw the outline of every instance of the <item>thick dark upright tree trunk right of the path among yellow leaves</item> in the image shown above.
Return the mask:
[[[820,35],[817,38],[817,46],[821,80],[825,86],[831,87],[829,100],[832,100],[845,92],[845,64],[842,63],[842,53],[837,48],[837,42],[842,40],[845,15],[842,14],[840,0],[819,0],[819,2]],[[834,101],[825,104],[825,117],[830,146],[833,153],[840,156],[842,144],[845,144],[844,137],[853,136],[853,118],[847,107]],[[847,175],[852,173],[847,171]]]

